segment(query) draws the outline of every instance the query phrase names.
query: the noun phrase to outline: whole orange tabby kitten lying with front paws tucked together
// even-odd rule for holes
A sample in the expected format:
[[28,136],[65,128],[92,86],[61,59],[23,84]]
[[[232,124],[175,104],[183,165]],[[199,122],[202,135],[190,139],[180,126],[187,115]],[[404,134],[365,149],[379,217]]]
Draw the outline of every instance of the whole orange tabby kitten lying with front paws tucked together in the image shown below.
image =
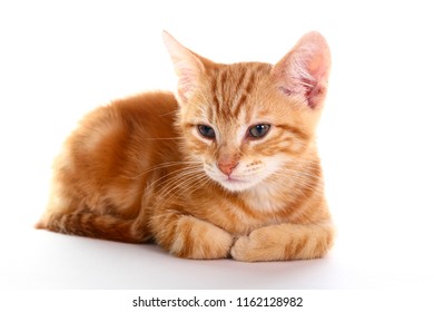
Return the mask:
[[315,128],[331,56],[309,32],[276,65],[216,64],[170,35],[178,90],[83,118],[37,227],[156,242],[180,257],[315,259],[334,231]]

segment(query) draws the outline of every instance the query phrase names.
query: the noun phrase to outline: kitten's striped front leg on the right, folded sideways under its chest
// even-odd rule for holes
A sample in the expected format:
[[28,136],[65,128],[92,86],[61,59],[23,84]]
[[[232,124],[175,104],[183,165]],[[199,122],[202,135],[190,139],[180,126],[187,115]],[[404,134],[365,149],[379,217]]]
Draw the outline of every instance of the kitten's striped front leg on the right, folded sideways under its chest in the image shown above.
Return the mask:
[[333,237],[331,223],[269,225],[239,237],[230,254],[246,262],[316,259],[332,247]]

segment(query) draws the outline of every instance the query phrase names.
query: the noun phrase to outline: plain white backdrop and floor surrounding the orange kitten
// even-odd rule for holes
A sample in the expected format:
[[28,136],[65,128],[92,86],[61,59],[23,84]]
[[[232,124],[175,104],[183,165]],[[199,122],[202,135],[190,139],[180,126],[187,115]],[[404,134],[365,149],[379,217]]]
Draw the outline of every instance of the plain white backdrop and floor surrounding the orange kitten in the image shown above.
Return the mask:
[[[432,12],[430,1],[1,1],[0,287],[432,289]],[[326,259],[186,261],[33,230],[77,120],[174,89],[162,29],[219,62],[276,62],[309,30],[327,38],[318,142],[338,236]]]

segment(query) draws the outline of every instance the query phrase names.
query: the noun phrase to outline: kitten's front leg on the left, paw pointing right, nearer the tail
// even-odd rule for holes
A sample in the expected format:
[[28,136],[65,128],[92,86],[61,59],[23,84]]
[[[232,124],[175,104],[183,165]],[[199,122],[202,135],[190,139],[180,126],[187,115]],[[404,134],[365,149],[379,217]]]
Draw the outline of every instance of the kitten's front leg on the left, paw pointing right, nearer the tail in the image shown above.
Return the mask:
[[179,257],[225,259],[234,244],[223,228],[176,211],[154,216],[150,226],[156,242]]

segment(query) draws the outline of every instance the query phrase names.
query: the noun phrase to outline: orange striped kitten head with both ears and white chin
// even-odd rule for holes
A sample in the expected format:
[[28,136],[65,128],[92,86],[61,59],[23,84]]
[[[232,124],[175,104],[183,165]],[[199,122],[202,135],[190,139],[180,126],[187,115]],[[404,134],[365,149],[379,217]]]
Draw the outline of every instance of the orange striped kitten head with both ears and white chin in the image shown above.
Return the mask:
[[213,62],[164,32],[176,74],[188,156],[231,192],[259,185],[315,153],[327,90],[324,37],[305,35],[276,65]]

